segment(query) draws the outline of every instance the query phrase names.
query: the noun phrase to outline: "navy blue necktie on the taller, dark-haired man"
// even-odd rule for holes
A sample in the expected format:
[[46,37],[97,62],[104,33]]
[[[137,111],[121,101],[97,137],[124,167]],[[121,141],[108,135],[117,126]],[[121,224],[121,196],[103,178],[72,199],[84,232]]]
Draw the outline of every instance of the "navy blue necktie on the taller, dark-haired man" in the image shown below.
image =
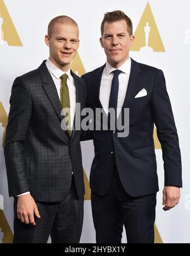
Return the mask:
[[111,82],[111,93],[110,93],[110,102],[109,102],[109,109],[113,107],[115,109],[115,114],[117,117],[117,98],[118,98],[118,76],[122,71],[119,71],[118,69],[116,71],[113,71],[113,79]]

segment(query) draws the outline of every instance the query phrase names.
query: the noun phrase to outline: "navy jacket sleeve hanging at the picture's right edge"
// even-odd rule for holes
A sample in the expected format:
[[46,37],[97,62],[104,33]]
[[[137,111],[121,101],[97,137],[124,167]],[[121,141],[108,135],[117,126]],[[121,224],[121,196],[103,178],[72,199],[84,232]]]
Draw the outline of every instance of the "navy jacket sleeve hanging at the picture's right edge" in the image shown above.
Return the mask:
[[162,71],[158,71],[152,95],[152,111],[158,139],[162,145],[165,185],[182,187],[179,139]]

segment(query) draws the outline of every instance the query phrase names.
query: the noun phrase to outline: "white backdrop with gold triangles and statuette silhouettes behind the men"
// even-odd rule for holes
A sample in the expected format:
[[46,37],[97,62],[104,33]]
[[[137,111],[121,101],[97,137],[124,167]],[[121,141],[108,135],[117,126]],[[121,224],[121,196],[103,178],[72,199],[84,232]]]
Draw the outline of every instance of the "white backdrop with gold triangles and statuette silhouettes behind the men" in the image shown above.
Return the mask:
[[[0,0],[0,243],[13,238],[13,199],[8,197],[3,145],[11,86],[16,76],[38,67],[48,57],[44,44],[47,24],[68,15],[80,28],[80,48],[72,69],[79,76],[105,63],[99,44],[100,25],[106,11],[122,10],[132,19],[136,43],[130,57],[162,69],[172,102],[182,154],[181,202],[162,210],[163,161],[155,135],[160,191],[157,196],[155,242],[190,242],[189,97],[190,3],[189,0]],[[145,38],[147,37],[147,41]],[[82,142],[85,209],[82,243],[94,243],[89,171],[94,156],[92,142]],[[123,242],[126,242],[124,233]]]

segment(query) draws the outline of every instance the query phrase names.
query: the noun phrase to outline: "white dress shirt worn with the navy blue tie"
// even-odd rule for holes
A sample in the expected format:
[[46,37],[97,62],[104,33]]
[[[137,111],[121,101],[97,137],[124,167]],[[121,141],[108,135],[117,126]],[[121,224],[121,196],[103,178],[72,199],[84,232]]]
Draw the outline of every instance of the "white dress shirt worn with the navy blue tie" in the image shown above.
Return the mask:
[[[118,68],[118,70],[122,71],[118,76],[119,80],[119,88],[118,88],[118,100],[117,100],[117,118],[120,114],[122,106],[124,104],[125,95],[127,93],[127,86],[129,83],[130,76],[130,68],[131,68],[131,59],[128,60]],[[111,67],[108,62],[106,62],[105,69],[103,70],[103,74],[101,77],[101,84],[99,90],[99,100],[106,114],[108,114],[109,102],[110,102],[110,93],[111,93],[111,82],[113,79],[113,71],[116,69]]]

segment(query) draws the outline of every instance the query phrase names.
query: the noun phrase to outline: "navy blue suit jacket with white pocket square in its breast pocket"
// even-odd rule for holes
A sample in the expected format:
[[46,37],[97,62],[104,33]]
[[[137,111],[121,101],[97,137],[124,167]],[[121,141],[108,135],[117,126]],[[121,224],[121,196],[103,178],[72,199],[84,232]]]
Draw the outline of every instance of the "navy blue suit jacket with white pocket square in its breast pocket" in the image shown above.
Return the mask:
[[[102,108],[99,89],[104,67],[82,76],[87,84],[87,107],[94,111]],[[143,88],[147,95],[135,98]],[[128,137],[117,137],[113,131],[92,131],[95,152],[90,175],[92,191],[106,194],[115,161],[122,185],[131,196],[158,191],[154,124],[162,145],[165,185],[182,187],[181,152],[163,72],[132,60],[122,112],[124,108],[129,108]]]

